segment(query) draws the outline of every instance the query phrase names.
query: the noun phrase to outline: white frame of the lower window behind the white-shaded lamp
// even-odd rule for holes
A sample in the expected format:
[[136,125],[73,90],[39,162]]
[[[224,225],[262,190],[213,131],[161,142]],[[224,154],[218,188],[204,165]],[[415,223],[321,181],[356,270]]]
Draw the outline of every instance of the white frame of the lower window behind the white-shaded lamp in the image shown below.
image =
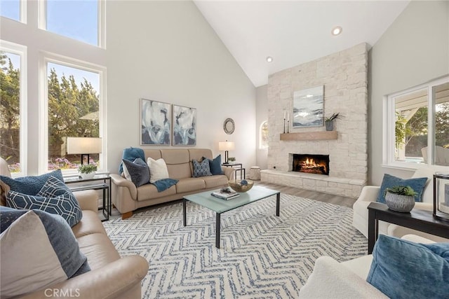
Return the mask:
[[[100,153],[100,166],[97,173],[107,172],[107,119],[106,119],[106,68],[97,64],[83,62],[74,58],[41,52],[39,55],[39,173],[46,173],[48,169],[48,62],[61,64],[65,67],[91,71],[99,76],[99,137],[102,138],[102,153]],[[64,169],[62,174],[69,176],[77,174],[77,169]]]

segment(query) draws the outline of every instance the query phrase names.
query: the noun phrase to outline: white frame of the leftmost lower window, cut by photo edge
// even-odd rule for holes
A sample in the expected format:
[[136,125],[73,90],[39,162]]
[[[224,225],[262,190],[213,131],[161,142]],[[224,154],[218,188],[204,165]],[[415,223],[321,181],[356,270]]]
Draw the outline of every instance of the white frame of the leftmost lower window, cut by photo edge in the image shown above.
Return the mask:
[[18,43],[0,40],[0,50],[20,56],[20,83],[19,83],[19,109],[20,109],[20,128],[19,128],[19,159],[20,172],[11,174],[13,177],[27,175],[27,47]]

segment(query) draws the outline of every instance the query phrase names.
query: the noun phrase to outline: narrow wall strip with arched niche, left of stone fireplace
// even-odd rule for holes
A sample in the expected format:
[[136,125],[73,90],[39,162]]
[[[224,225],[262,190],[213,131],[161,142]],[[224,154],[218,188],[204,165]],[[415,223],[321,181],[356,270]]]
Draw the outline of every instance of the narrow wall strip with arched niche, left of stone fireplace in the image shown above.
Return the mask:
[[256,88],[256,118],[255,118],[255,137],[256,137],[256,164],[260,169],[267,169],[267,149],[260,149],[260,125],[268,120],[268,85],[262,85]]

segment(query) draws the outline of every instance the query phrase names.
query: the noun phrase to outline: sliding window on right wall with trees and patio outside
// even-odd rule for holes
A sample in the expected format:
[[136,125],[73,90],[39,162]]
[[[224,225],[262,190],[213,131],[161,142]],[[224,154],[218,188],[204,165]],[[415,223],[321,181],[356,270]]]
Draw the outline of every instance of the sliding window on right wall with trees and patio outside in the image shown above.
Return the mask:
[[449,166],[449,77],[387,97],[387,165]]

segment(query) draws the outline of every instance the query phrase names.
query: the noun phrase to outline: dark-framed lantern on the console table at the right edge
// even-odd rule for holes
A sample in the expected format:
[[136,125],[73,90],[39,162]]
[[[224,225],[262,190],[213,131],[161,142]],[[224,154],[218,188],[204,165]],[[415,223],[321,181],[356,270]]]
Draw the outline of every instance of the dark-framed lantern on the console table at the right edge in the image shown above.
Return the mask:
[[449,221],[449,172],[434,174],[434,217]]

